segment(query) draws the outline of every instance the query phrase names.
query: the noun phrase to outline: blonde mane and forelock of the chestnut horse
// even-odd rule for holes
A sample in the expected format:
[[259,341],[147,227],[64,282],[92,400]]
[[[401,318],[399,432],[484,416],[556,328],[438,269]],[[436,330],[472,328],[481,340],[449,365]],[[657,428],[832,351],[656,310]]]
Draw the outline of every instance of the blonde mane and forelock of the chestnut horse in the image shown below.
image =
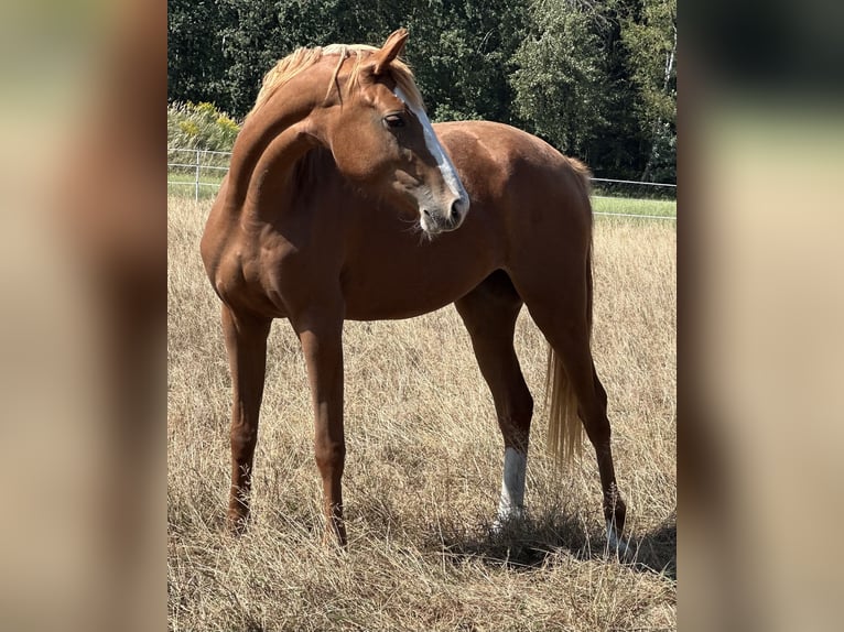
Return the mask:
[[[358,83],[361,62],[378,50],[379,48],[375,46],[368,46],[366,44],[331,44],[328,46],[314,46],[313,48],[296,48],[293,53],[283,59],[280,59],[263,76],[261,90],[258,92],[258,98],[256,99],[249,116],[263,106],[281,86],[320,62],[323,57],[337,57],[337,65],[334,68],[328,89],[325,92],[326,99],[331,96],[332,91],[338,87],[337,77],[343,67],[343,63],[349,57],[355,57],[355,65],[351,68],[349,80],[346,85],[346,91],[350,91]],[[419,88],[416,88],[416,84],[413,80],[413,73],[410,69],[410,66],[398,58],[393,59],[390,63],[390,74],[396,81],[396,85],[408,96],[410,100],[409,105],[411,107],[424,108],[422,95],[419,92]],[[343,94],[340,94],[340,99],[343,99]]]

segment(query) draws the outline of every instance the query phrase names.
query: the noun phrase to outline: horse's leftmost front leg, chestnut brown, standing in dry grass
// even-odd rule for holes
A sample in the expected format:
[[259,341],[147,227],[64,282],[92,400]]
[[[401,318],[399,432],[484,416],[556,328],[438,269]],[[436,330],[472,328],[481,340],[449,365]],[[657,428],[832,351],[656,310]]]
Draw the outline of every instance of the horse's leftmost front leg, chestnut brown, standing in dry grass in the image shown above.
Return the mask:
[[252,460],[258,440],[258,414],[267,368],[267,337],[271,319],[235,314],[223,306],[223,331],[231,372],[231,488],[227,527],[235,534],[246,529]]

